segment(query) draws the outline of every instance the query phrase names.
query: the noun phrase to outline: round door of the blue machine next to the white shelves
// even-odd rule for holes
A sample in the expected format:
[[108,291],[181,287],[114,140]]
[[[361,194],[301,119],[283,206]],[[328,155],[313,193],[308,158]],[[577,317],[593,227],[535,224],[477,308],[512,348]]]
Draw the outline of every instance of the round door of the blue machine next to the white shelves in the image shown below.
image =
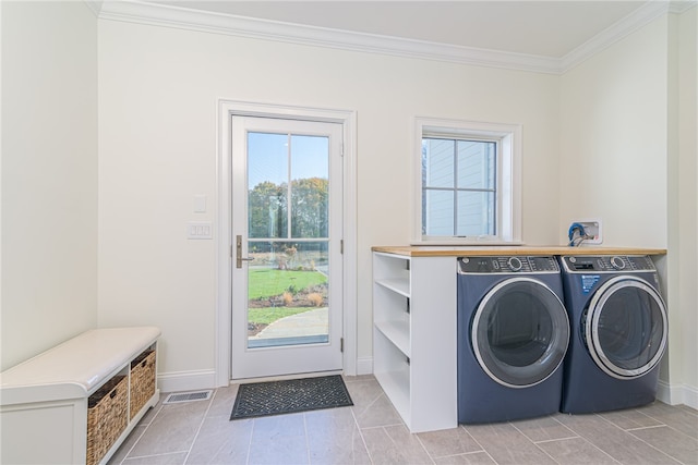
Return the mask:
[[527,388],[550,377],[569,343],[567,310],[547,285],[502,281],[480,301],[470,326],[480,367],[500,384]]

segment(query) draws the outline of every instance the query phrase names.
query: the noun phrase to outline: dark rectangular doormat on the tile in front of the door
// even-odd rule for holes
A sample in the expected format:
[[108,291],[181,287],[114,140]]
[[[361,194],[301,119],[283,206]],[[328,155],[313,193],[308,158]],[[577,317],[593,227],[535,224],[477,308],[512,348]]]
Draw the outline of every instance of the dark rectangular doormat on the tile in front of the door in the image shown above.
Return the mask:
[[353,405],[340,375],[240,384],[230,419]]

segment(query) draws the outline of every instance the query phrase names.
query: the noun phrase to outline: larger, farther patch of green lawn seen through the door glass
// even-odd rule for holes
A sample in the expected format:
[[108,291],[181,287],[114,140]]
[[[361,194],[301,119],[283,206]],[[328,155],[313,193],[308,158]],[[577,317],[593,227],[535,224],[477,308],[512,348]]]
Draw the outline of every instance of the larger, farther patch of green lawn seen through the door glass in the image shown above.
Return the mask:
[[293,286],[296,292],[327,282],[327,277],[318,271],[251,269],[248,298],[269,298],[281,295]]

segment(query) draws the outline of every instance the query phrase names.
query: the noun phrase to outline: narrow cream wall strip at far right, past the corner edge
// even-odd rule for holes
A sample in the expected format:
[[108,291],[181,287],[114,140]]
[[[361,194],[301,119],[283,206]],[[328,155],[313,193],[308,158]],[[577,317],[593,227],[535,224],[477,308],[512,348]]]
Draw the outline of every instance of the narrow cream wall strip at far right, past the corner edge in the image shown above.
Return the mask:
[[698,7],[672,20],[667,287],[674,326],[667,369],[671,401],[698,408]]

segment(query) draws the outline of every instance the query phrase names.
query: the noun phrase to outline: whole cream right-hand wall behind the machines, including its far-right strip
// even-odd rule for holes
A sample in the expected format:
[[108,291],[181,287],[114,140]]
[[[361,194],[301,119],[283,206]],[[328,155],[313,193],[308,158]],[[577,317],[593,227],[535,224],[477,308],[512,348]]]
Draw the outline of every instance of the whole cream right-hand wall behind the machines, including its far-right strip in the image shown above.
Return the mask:
[[663,395],[693,406],[698,405],[691,355],[698,353],[695,10],[682,19],[663,15],[561,77],[559,213],[561,231],[574,219],[601,218],[604,245],[669,249],[658,260],[670,313]]

